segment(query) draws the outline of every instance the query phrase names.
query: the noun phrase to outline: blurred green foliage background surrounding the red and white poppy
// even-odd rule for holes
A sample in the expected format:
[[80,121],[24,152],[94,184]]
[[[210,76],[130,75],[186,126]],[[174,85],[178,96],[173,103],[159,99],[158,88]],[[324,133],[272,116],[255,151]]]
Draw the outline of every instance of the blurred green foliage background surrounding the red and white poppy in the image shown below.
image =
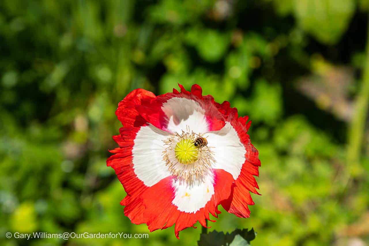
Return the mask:
[[[106,167],[132,89],[182,83],[253,121],[260,152],[252,245],[369,243],[368,0],[0,1],[2,245],[196,245],[149,239],[6,239],[8,231],[147,233]],[[367,64],[367,65],[366,65]],[[221,211],[224,211],[223,209]]]

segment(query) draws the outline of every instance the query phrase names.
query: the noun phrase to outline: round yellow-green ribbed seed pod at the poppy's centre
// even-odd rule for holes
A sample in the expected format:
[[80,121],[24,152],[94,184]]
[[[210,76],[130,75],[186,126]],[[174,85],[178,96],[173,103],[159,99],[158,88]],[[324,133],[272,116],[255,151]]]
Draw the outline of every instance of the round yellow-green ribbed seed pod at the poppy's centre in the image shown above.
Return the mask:
[[194,163],[199,157],[199,150],[191,139],[180,140],[176,144],[174,152],[176,159],[184,165]]

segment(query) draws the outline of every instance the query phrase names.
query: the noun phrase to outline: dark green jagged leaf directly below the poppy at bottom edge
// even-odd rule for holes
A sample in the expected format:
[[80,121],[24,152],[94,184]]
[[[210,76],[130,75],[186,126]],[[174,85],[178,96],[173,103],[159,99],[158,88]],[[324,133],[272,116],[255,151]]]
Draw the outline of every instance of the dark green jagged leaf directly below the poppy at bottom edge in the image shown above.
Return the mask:
[[199,246],[245,246],[250,245],[250,242],[255,239],[256,233],[254,228],[236,229],[232,233],[217,232],[213,230],[207,234],[201,234],[200,240],[197,241]]

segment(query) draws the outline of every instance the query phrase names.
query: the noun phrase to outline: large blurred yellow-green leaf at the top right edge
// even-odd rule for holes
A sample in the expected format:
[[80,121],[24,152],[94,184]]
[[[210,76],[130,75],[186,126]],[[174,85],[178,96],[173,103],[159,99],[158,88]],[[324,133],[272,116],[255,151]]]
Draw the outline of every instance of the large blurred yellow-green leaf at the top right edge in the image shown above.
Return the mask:
[[338,42],[355,11],[353,0],[299,0],[295,4],[301,27],[326,44]]

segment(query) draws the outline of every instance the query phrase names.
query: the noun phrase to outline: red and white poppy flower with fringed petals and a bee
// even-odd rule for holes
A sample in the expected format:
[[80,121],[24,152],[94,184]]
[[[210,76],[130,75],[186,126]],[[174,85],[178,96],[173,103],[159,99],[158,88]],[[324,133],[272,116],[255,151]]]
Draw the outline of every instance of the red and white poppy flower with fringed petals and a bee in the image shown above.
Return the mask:
[[151,232],[175,224],[178,239],[197,221],[213,221],[209,213],[218,218],[218,205],[248,218],[261,165],[247,134],[248,116],[203,96],[199,85],[179,87],[159,96],[129,93],[115,112],[123,124],[113,136],[119,147],[107,159],[127,193],[125,216]]

